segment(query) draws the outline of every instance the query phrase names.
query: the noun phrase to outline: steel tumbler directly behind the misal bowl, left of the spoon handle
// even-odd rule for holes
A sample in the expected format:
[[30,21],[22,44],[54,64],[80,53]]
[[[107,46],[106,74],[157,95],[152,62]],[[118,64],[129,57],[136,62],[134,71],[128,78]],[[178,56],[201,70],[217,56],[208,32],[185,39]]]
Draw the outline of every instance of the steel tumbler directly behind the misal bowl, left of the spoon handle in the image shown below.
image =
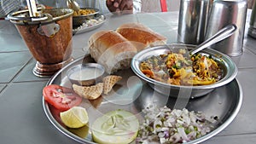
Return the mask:
[[209,0],[181,0],[177,42],[188,44],[203,42],[208,10]]

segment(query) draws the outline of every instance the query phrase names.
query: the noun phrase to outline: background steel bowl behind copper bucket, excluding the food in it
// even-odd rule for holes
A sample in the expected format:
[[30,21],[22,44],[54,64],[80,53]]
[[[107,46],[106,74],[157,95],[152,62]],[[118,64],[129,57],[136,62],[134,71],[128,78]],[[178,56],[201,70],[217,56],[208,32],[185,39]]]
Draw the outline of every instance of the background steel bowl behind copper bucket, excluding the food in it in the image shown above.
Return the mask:
[[94,8],[81,8],[81,9],[89,9],[89,10],[94,10],[95,13],[91,14],[85,14],[85,15],[73,15],[73,26],[81,26],[83,23],[86,23],[87,20],[94,19],[97,14],[99,14],[100,10],[99,9],[94,9]]

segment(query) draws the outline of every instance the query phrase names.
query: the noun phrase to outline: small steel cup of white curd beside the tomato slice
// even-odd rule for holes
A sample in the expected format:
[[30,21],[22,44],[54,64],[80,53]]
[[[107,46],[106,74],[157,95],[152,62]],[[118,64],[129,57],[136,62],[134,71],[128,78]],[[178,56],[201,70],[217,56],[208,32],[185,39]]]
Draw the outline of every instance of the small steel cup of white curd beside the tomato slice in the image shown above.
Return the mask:
[[97,63],[86,63],[69,68],[67,78],[72,84],[90,86],[102,82],[104,73],[104,66]]

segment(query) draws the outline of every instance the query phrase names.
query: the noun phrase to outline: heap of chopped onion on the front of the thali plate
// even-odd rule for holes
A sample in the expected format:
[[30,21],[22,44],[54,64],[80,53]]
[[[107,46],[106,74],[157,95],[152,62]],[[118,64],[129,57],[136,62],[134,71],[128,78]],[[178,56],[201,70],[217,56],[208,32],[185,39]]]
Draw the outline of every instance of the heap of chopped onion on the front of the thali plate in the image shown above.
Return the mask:
[[168,107],[150,105],[143,109],[143,124],[137,135],[137,143],[183,143],[207,135],[214,129],[218,117],[207,118],[202,112],[187,109],[171,110]]

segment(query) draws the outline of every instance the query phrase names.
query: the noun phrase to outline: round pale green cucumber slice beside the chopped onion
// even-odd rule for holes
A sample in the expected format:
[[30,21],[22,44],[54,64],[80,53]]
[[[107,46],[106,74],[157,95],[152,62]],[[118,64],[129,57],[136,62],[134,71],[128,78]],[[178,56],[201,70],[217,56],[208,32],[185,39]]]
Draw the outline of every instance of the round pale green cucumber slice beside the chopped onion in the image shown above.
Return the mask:
[[136,139],[138,127],[134,114],[118,109],[97,118],[91,125],[91,135],[100,144],[126,144]]

